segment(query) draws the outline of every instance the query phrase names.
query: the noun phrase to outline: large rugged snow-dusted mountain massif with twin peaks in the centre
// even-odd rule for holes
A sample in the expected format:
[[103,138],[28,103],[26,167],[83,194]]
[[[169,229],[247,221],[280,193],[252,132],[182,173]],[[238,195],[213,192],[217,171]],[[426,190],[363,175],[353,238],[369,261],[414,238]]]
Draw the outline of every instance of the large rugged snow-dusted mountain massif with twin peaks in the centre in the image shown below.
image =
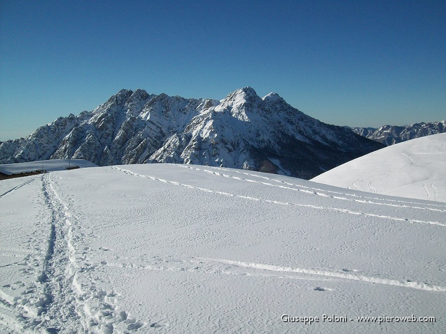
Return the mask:
[[91,112],[70,114],[0,144],[0,163],[84,158],[100,166],[191,163],[305,179],[383,147],[249,87],[223,100],[121,90]]

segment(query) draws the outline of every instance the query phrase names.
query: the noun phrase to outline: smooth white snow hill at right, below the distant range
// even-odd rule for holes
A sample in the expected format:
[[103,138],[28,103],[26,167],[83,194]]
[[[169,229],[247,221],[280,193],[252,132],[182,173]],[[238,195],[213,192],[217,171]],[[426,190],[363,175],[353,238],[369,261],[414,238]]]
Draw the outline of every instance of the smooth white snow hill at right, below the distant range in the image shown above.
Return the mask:
[[446,133],[391,145],[338,166],[312,181],[446,202]]

